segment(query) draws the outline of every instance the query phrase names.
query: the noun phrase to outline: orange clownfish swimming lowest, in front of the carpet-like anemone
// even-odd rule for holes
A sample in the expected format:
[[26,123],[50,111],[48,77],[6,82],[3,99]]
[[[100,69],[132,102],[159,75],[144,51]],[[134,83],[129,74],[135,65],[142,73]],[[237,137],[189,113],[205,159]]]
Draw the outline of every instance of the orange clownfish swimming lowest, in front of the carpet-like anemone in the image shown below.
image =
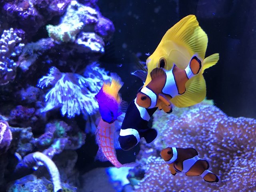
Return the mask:
[[206,182],[218,182],[216,174],[208,170],[209,163],[198,157],[194,148],[168,147],[161,151],[161,157],[169,165],[172,175],[185,172],[186,176],[201,176]]

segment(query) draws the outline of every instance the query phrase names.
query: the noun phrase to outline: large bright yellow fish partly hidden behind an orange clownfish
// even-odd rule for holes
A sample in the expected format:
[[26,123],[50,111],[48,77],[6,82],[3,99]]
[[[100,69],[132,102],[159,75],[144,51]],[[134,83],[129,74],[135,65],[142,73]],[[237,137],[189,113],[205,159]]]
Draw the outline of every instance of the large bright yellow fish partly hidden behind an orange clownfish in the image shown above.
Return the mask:
[[207,35],[199,26],[196,16],[184,17],[166,32],[154,53],[146,60],[148,74],[143,88],[151,82],[150,73],[154,68],[171,70],[175,64],[185,70],[192,56],[196,55],[202,62],[199,73],[186,82],[186,92],[171,98],[170,102],[177,107],[188,107],[204,100],[206,84],[202,74],[219,60],[218,53],[204,58],[207,44]]

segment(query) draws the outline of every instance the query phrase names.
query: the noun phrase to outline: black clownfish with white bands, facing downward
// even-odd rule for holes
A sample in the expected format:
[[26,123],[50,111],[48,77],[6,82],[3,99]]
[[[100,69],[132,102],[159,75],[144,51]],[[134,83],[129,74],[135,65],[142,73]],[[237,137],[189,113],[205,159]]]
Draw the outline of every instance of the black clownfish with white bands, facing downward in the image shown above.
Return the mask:
[[136,146],[142,137],[151,143],[157,136],[157,131],[148,127],[150,117],[156,108],[146,109],[136,104],[136,98],[130,102],[118,138],[122,150],[130,150]]

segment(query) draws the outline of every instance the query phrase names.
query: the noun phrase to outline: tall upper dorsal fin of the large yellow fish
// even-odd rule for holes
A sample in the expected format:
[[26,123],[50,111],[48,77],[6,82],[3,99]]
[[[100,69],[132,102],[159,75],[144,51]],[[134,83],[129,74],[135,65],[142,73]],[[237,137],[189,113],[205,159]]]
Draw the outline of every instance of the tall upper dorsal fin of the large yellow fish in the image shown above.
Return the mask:
[[188,49],[190,55],[198,53],[200,58],[204,58],[208,37],[204,30],[199,26],[196,16],[188,15],[170,28],[162,42],[171,40],[180,46]]

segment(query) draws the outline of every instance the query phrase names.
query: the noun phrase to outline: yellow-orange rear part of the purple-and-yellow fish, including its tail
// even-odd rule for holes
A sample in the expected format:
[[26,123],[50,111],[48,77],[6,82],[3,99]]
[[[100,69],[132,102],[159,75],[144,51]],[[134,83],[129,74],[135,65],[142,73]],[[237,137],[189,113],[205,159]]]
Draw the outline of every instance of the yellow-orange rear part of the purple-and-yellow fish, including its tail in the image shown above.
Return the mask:
[[116,100],[118,99],[118,92],[120,88],[123,86],[124,82],[122,82],[121,78],[116,73],[110,73],[112,81],[104,82],[103,91],[107,94],[113,96]]

